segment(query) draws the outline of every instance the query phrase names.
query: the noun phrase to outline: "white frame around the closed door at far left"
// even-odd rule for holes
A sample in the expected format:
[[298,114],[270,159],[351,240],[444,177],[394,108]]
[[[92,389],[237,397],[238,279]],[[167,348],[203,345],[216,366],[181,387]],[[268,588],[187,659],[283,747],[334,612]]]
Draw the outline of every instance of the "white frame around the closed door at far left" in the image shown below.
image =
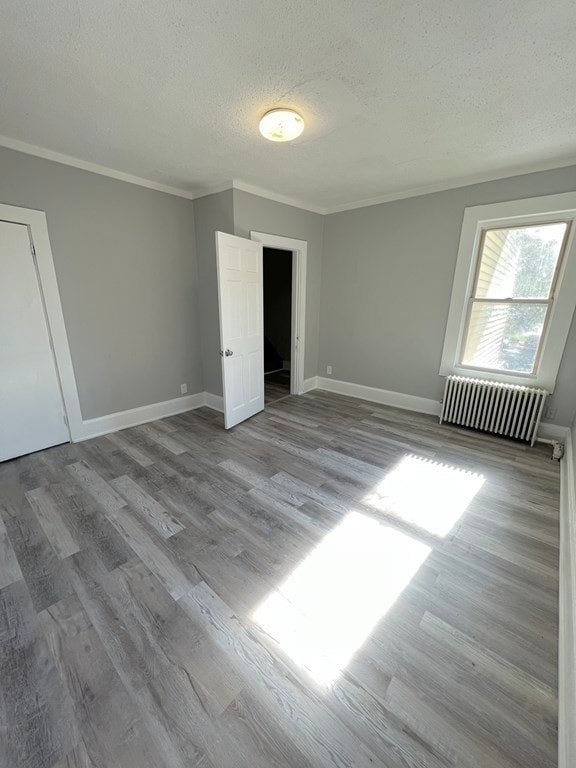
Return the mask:
[[36,268],[40,297],[44,306],[46,326],[54,356],[54,365],[62,395],[62,404],[70,442],[80,440],[82,439],[82,411],[80,410],[78,388],[76,386],[68,335],[62,313],[60,292],[58,290],[52,248],[48,236],[46,214],[44,211],[37,211],[32,208],[19,208],[14,205],[0,203],[0,221],[6,221],[11,224],[23,224],[28,228],[30,251]]

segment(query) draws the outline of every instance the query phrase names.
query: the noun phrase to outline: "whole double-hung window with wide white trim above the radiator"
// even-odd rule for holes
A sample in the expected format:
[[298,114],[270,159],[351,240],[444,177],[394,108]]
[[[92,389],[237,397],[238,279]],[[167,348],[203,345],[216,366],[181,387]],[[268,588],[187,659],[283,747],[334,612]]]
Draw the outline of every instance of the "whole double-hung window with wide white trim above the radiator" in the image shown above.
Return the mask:
[[441,375],[553,390],[576,305],[575,218],[576,194],[466,209]]

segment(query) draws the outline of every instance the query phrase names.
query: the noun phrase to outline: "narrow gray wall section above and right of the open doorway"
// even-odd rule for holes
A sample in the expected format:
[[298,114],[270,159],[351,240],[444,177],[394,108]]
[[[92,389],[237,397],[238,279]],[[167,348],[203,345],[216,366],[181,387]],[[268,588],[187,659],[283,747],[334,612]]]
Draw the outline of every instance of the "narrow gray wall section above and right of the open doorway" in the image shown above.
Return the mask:
[[237,235],[250,237],[250,230],[254,230],[308,242],[304,378],[316,376],[318,372],[320,273],[325,218],[317,213],[234,190],[234,228]]

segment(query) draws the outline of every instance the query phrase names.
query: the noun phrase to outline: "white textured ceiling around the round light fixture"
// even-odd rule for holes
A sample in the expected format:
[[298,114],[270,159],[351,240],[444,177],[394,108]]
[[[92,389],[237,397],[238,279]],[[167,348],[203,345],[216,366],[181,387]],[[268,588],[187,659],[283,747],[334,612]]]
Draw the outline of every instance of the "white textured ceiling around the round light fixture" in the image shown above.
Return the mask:
[[[0,134],[320,208],[553,167],[575,24],[573,0],[0,0]],[[277,106],[292,144],[258,133]]]

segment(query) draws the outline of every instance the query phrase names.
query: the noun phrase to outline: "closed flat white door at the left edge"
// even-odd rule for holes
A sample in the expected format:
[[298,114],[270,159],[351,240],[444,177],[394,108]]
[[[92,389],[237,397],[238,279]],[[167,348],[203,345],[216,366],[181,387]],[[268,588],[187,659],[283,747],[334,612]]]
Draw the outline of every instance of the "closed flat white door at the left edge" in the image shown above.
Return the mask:
[[0,461],[69,439],[28,227],[0,221]]

